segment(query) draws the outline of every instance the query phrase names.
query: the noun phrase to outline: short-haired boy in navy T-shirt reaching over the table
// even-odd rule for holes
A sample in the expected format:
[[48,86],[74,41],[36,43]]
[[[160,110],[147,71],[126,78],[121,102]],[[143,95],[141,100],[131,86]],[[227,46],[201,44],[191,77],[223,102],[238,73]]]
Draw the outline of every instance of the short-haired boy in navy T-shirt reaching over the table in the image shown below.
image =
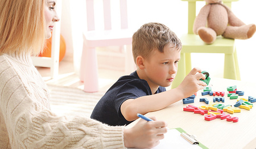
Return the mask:
[[137,71],[122,76],[98,101],[91,118],[105,124],[128,125],[137,113],[160,110],[207,86],[200,69],[193,69],[183,82],[172,90],[177,74],[181,42],[166,25],[148,23],[133,35],[133,57]]

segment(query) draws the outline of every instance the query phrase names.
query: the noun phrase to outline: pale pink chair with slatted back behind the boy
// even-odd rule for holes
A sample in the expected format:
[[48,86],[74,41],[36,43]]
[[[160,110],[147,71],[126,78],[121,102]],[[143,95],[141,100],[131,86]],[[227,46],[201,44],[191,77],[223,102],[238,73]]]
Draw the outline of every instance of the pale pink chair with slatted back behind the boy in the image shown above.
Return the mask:
[[[112,8],[110,0],[103,1],[103,14],[104,15],[104,30],[97,31],[95,27],[95,15],[93,0],[86,0],[86,16],[87,16],[87,31],[83,33],[84,45],[82,49],[80,79],[84,82],[85,92],[97,92],[98,87],[98,66],[96,47],[101,46],[122,46],[126,45],[131,47],[131,37],[133,32],[128,29],[127,22],[127,0],[119,0],[120,3],[120,20],[121,28],[113,29],[112,27]],[[131,56],[131,48],[127,49],[127,57]],[[132,58],[130,58],[132,59]],[[132,65],[134,62],[126,60],[126,66]],[[129,67],[129,66],[127,66]],[[130,66],[132,67],[132,66]]]

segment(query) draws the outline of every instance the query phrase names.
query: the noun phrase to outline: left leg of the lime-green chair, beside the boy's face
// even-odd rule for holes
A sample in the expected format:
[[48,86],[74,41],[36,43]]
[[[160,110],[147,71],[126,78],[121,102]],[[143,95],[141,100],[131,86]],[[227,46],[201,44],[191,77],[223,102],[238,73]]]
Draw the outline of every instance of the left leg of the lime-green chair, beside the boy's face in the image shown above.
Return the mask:
[[186,75],[185,53],[180,53],[180,61],[178,65],[177,75],[172,82],[171,88],[176,88],[183,81]]

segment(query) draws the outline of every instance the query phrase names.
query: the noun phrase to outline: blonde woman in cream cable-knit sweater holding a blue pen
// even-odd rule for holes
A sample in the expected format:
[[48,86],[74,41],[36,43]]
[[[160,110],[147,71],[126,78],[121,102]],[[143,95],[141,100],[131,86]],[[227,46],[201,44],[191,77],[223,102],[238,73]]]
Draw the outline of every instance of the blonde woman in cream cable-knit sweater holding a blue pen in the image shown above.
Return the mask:
[[86,117],[67,120],[49,107],[46,83],[32,65],[59,21],[55,0],[0,1],[1,148],[154,147],[167,132],[163,121],[138,121],[130,129]]

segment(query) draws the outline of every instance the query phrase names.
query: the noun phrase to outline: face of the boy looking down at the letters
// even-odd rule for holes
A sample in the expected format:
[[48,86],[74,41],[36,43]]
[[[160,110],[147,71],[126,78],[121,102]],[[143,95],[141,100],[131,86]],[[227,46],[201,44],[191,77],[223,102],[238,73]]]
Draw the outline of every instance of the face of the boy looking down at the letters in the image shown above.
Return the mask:
[[177,74],[177,63],[180,60],[180,50],[173,44],[164,46],[164,52],[154,50],[144,62],[147,82],[150,87],[168,87]]

